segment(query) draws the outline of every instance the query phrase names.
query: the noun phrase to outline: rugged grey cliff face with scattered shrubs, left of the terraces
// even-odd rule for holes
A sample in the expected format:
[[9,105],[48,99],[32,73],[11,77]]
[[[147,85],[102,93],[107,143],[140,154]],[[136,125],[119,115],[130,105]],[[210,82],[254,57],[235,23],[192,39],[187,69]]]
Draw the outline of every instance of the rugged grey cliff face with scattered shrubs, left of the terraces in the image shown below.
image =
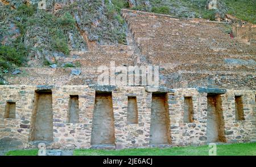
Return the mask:
[[39,2],[0,3],[0,42],[26,46],[28,66],[55,63],[71,51],[126,43],[125,21],[111,1],[48,0],[45,9]]

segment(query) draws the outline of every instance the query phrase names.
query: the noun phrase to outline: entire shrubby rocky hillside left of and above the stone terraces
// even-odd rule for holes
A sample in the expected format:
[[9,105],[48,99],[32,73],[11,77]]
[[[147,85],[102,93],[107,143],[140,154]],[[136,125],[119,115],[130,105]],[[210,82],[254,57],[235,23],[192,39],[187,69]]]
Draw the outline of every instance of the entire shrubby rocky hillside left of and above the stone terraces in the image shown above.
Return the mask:
[[256,23],[255,0],[47,0],[44,9],[39,2],[0,0],[0,78],[18,66],[49,66],[70,52],[125,45],[121,8],[218,21],[232,14]]

